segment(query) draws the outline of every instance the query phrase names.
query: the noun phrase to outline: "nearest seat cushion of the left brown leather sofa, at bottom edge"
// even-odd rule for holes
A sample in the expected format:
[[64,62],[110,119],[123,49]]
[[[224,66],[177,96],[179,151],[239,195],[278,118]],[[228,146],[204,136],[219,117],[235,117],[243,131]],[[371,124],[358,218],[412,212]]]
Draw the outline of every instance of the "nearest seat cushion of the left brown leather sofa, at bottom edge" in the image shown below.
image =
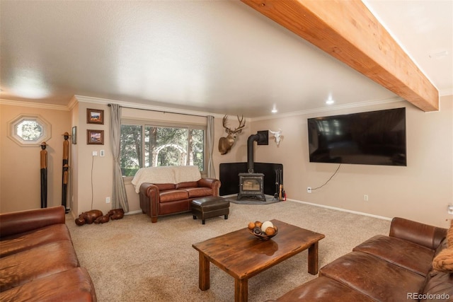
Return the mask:
[[86,269],[76,267],[2,291],[0,301],[96,301]]

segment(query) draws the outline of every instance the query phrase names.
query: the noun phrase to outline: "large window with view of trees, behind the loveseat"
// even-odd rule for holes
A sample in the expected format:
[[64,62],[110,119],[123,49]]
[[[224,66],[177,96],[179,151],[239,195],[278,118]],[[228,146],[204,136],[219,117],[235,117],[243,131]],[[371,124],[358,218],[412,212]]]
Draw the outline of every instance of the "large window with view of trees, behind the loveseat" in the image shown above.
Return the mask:
[[203,171],[205,127],[123,123],[120,161],[123,176],[163,165],[197,165]]

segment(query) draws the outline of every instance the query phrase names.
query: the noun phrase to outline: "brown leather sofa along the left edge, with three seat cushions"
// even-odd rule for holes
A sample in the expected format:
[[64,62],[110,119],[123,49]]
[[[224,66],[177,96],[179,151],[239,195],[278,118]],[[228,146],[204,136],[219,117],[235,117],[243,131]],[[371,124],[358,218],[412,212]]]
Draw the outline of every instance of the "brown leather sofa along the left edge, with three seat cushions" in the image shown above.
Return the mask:
[[64,207],[0,214],[0,301],[96,301]]

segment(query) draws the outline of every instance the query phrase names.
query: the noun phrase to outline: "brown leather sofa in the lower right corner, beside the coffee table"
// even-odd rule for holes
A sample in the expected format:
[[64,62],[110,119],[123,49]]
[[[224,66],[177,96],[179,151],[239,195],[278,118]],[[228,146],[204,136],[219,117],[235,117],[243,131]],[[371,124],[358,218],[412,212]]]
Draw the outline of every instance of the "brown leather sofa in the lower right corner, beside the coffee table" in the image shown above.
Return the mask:
[[453,274],[432,269],[447,247],[445,228],[402,218],[271,301],[453,301]]

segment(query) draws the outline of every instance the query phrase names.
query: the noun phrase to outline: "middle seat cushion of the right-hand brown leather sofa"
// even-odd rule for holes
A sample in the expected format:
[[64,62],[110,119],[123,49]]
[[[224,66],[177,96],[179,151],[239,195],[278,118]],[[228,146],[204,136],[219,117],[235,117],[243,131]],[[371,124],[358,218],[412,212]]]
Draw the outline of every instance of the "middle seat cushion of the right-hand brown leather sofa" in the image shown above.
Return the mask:
[[319,271],[377,301],[407,301],[418,293],[425,278],[365,252],[350,252]]

